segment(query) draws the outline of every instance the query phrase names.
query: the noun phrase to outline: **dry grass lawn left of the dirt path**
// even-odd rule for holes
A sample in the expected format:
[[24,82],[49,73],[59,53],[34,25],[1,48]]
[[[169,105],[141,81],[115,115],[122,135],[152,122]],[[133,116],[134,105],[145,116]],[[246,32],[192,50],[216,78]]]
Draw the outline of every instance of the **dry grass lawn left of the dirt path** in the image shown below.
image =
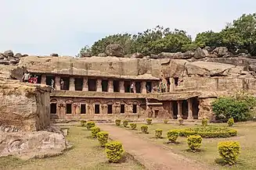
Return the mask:
[[136,161],[128,155],[125,156],[121,164],[110,164],[106,159],[106,154],[99,142],[92,139],[91,132],[79,126],[70,126],[70,133],[67,140],[73,144],[74,148],[64,154],[54,158],[32,159],[21,161],[16,158],[0,158],[0,169],[143,169]]

